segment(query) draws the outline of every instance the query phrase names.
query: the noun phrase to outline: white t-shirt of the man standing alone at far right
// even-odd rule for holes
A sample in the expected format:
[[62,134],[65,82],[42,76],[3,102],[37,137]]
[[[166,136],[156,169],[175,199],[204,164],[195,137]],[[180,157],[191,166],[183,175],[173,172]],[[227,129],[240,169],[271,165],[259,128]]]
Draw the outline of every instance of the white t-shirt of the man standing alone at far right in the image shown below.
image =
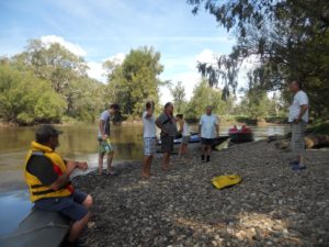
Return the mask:
[[[307,94],[304,91],[299,90],[294,96],[293,103],[290,106],[290,115],[288,115],[288,122],[290,123],[292,123],[292,122],[294,122],[294,120],[298,119],[298,115],[299,115],[300,110],[302,110],[302,105],[304,105],[304,104],[308,105],[308,98],[307,98]],[[308,122],[308,109],[306,110],[306,112],[302,116],[302,120],[306,123]]]

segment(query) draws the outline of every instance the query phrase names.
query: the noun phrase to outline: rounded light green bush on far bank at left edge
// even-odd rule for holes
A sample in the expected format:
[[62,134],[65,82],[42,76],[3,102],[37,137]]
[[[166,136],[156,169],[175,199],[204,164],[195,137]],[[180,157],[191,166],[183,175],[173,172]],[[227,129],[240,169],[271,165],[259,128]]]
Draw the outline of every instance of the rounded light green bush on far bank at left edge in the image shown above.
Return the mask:
[[44,80],[31,71],[0,65],[0,115],[8,122],[32,124],[58,122],[66,103]]

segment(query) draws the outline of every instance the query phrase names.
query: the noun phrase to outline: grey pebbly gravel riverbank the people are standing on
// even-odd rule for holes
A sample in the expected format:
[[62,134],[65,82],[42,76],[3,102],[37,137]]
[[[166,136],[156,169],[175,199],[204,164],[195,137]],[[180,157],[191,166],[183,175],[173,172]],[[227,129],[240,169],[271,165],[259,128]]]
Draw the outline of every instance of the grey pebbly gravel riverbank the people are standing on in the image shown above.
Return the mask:
[[[169,171],[154,160],[116,177],[75,178],[94,199],[84,232],[90,247],[329,246],[329,151],[307,150],[307,169],[292,171],[291,154],[265,141],[213,153],[209,164],[172,157]],[[211,179],[238,173],[242,182],[216,190]]]

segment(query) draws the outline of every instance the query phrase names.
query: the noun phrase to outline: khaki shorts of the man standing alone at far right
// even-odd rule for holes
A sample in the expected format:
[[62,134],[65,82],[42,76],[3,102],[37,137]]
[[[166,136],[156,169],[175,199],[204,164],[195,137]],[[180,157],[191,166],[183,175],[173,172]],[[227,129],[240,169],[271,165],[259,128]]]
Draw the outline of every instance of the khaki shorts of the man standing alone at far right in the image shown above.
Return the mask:
[[305,130],[307,123],[300,121],[299,123],[292,123],[292,150],[296,155],[303,155],[305,153]]

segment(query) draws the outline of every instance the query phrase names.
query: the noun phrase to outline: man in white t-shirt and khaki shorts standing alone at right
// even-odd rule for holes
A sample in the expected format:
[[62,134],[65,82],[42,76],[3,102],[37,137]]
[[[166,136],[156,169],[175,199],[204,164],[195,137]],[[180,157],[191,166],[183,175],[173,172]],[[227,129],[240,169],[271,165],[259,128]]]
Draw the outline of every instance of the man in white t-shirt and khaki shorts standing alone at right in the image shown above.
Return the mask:
[[291,162],[293,170],[303,170],[306,168],[304,161],[305,153],[305,130],[308,123],[308,98],[302,90],[299,81],[293,81],[290,86],[294,93],[293,103],[290,106],[288,122],[292,126],[292,150],[297,156],[297,160]]

